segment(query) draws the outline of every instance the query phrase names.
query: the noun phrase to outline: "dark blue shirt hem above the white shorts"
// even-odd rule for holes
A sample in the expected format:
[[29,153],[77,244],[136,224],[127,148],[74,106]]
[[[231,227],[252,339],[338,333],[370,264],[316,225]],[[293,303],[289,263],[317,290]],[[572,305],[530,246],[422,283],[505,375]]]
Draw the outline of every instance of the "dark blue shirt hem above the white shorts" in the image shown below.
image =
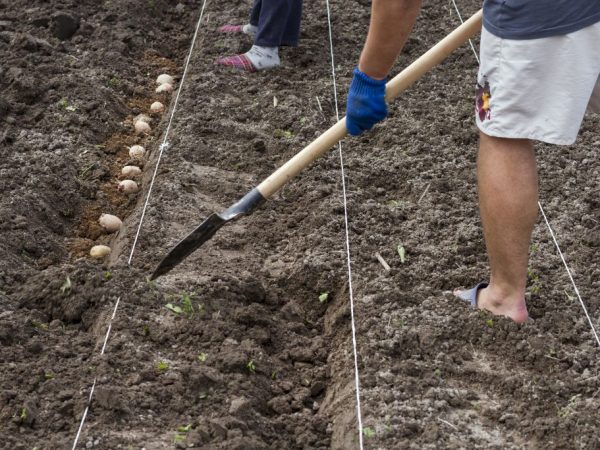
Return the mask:
[[[484,0],[483,25],[504,39],[572,33],[600,21],[600,0]],[[600,51],[600,43],[598,45]]]

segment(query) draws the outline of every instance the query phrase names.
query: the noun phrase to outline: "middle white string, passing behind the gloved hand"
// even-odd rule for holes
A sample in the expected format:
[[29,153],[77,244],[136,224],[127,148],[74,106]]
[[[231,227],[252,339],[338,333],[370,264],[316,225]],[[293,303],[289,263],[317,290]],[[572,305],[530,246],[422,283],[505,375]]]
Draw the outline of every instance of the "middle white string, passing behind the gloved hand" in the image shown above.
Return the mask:
[[[336,120],[340,120],[340,112],[338,108],[337,98],[337,83],[335,73],[335,57],[333,52],[333,32],[331,27],[331,11],[329,7],[329,0],[325,0],[327,5],[327,22],[329,24],[329,52],[331,54],[331,78],[333,80],[333,98],[335,101],[335,117]],[[318,97],[317,97],[318,98]],[[352,261],[350,254],[350,232],[348,226],[348,201],[346,195],[346,174],[344,170],[344,155],[342,152],[342,142],[338,142],[338,149],[340,154],[340,168],[342,173],[342,196],[344,199],[344,225],[346,232],[346,261],[348,265],[348,293],[350,295],[350,322],[352,324],[352,350],[354,353],[354,384],[356,391],[356,415],[358,417],[358,445],[360,450],[363,450],[363,428],[362,428],[362,413],[360,408],[360,376],[358,373],[358,345],[356,343],[356,323],[354,320],[354,293],[352,289]]]

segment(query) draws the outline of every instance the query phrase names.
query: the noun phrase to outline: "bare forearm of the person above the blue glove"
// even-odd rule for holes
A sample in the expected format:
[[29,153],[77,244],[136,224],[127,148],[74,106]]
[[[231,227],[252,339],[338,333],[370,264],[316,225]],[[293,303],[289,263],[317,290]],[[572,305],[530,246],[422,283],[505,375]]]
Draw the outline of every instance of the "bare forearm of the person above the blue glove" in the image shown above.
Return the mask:
[[367,41],[358,68],[384,79],[402,51],[421,9],[421,0],[373,0]]

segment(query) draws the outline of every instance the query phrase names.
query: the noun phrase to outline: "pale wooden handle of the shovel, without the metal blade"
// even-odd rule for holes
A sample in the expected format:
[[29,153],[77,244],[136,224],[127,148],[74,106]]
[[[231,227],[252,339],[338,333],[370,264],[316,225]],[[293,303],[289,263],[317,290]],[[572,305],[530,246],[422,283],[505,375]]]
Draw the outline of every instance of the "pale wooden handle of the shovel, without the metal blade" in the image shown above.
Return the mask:
[[[469,20],[392,78],[386,84],[386,101],[395,99],[400,92],[410,87],[425,73],[441,63],[454,50],[478,33],[481,30],[481,21],[482,12],[479,10]],[[257,186],[258,191],[265,199],[270,198],[305,167],[341,141],[346,134],[346,118],[344,117],[259,184]]]

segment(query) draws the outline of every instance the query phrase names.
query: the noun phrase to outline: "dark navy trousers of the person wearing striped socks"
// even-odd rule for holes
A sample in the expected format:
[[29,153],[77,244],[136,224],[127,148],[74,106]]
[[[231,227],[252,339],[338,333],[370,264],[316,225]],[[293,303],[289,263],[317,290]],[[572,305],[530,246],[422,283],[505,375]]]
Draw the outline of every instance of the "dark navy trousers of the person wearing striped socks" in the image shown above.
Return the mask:
[[258,27],[254,43],[261,47],[298,45],[302,0],[254,0],[250,24]]

